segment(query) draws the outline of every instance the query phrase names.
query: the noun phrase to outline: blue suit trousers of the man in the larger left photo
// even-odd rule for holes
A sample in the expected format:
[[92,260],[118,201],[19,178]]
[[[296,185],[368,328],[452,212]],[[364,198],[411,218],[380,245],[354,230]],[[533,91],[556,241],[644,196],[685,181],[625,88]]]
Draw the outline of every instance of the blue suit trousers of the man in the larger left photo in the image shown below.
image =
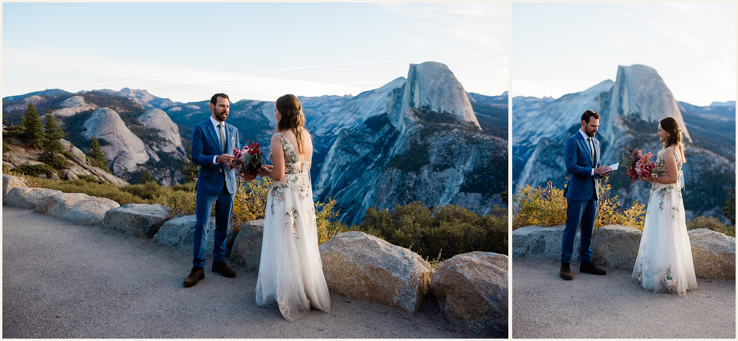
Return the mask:
[[226,237],[228,235],[228,221],[233,211],[235,194],[228,193],[227,185],[223,185],[221,193],[197,193],[197,207],[195,208],[196,224],[194,237],[193,266],[205,267],[205,247],[207,246],[207,229],[210,227],[210,213],[215,206],[215,231],[213,261],[220,262],[226,255]]

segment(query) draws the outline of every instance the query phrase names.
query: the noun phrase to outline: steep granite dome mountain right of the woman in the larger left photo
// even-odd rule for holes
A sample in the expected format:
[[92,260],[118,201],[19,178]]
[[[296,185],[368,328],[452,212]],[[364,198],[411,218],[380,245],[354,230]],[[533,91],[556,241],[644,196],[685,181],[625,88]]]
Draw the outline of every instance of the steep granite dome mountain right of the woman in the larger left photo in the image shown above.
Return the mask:
[[354,127],[335,126],[336,140],[314,177],[317,199],[341,202],[345,223],[359,223],[368,207],[415,200],[463,204],[480,214],[505,204],[507,141],[480,130],[463,86],[445,65],[413,64],[407,81],[341,101],[332,110],[348,122],[359,117],[348,108],[376,113]]

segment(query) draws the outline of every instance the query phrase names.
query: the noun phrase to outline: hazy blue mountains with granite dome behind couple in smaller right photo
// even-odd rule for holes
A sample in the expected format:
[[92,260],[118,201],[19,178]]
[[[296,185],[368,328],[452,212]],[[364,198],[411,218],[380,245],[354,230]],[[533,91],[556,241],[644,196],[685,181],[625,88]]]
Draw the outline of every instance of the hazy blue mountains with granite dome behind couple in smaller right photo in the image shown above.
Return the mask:
[[[727,188],[735,183],[735,102],[692,106],[677,102],[655,69],[643,65],[618,66],[615,82],[604,80],[584,92],[551,97],[513,98],[513,184],[563,187],[563,146],[581,127],[582,113],[601,115],[596,135],[602,162],[621,162],[621,148],[632,146],[656,154],[661,150],[655,132],[658,121],[675,117],[687,143],[683,191],[688,216],[722,216]],[[654,157],[655,159],[655,157]],[[622,203],[648,199],[649,186],[631,182],[623,171],[610,176]]]

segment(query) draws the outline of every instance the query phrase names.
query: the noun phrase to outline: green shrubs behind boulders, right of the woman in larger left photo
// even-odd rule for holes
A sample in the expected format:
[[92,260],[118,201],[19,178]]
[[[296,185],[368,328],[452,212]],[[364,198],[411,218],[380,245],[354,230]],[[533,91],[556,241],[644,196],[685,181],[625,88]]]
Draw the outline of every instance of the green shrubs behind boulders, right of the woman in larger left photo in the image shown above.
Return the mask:
[[362,231],[441,261],[472,251],[507,255],[507,226],[507,210],[499,207],[494,214],[480,216],[452,204],[430,209],[411,202],[397,205],[393,212],[370,207],[362,224],[340,231]]

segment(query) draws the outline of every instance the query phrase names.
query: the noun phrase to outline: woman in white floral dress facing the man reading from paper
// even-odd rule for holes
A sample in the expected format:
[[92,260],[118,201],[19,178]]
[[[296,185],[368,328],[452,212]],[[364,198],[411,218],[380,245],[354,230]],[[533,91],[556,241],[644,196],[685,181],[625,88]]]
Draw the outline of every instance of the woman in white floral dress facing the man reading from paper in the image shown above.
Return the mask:
[[641,247],[632,278],[647,290],[685,296],[697,289],[689,244],[681,189],[684,187],[682,164],[686,162],[679,123],[665,117],[658,125],[663,149],[656,159]]

